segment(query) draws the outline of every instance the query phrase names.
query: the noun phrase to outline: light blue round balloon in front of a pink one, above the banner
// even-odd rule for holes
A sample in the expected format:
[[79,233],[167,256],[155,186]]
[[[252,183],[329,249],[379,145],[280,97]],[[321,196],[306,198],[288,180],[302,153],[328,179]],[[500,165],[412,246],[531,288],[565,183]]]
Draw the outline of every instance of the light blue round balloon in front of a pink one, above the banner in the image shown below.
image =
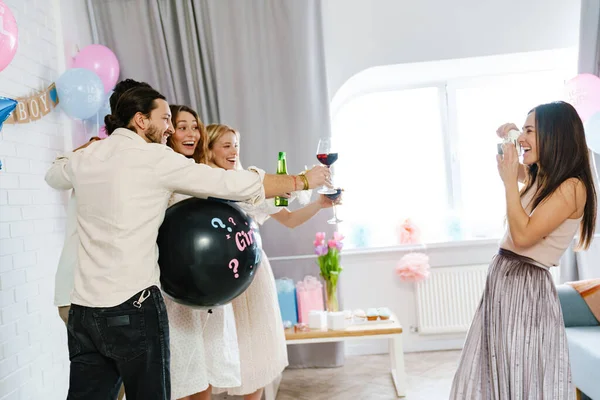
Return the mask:
[[95,72],[85,68],[65,71],[56,81],[58,100],[72,118],[88,119],[95,115],[104,100],[104,85]]

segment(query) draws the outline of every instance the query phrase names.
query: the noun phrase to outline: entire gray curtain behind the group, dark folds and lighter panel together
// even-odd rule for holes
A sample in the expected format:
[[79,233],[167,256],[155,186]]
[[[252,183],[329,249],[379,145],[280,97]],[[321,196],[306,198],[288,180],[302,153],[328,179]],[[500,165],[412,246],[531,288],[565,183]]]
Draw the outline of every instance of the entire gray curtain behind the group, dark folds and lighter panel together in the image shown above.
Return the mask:
[[[245,166],[275,172],[279,151],[290,173],[317,163],[318,140],[330,134],[320,1],[94,0],[92,8],[121,78],[238,129]],[[293,231],[268,221],[266,253],[312,254],[315,232],[334,230],[330,217],[324,211]],[[271,264],[276,277],[318,276],[314,259]],[[289,346],[289,356],[291,366],[337,366],[343,344]]]

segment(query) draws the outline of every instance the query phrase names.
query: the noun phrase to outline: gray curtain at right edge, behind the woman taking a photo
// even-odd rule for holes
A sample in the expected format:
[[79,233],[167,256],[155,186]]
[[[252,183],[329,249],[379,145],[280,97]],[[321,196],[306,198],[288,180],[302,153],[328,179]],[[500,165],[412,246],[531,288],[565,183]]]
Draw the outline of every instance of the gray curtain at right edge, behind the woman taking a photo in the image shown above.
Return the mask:
[[[600,75],[600,0],[581,1],[579,31],[578,72]],[[600,156],[590,151],[596,172],[596,190],[600,193],[598,166]],[[596,235],[600,234],[600,217],[596,224]],[[594,240],[589,250],[574,252],[567,250],[561,260],[560,280],[562,283],[579,279],[600,277],[600,243]]]

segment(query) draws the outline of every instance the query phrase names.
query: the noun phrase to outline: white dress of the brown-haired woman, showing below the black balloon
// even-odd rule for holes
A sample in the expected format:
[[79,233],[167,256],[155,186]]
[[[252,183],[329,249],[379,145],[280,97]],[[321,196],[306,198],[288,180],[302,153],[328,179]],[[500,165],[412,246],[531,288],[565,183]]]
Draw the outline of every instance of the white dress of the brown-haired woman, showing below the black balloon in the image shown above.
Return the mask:
[[[189,196],[174,194],[169,205]],[[212,314],[164,296],[171,343],[173,399],[214,388],[239,386],[240,355],[233,307],[216,307]]]

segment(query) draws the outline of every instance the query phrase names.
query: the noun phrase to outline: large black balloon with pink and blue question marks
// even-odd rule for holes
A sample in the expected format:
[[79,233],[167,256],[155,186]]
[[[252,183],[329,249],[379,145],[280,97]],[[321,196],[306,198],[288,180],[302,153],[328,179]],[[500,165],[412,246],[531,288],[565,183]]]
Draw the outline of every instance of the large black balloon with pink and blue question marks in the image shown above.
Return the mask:
[[174,301],[196,308],[231,302],[260,264],[258,225],[238,206],[190,198],[167,209],[158,232],[160,282]]

